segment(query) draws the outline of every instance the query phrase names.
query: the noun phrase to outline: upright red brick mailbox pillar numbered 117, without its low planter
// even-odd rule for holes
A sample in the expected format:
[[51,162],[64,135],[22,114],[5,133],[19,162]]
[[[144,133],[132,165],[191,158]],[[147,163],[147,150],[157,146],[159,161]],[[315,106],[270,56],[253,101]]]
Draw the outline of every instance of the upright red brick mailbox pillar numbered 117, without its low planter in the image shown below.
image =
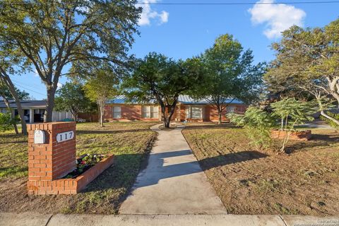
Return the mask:
[[[42,130],[46,142],[34,142],[35,130]],[[57,142],[57,133],[76,131],[75,122],[54,122],[28,125],[28,190],[33,194],[44,194],[40,185],[64,177],[76,168],[76,135],[73,139]]]

